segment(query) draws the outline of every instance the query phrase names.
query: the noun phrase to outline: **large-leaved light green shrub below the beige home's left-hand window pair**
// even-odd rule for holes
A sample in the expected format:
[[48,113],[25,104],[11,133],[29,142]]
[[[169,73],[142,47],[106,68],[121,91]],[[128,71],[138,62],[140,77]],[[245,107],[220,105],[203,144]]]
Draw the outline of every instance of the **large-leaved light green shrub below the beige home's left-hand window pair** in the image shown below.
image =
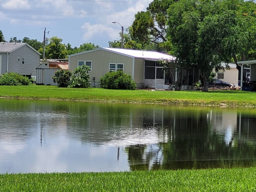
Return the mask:
[[[88,72],[91,70],[90,67],[83,65],[75,68],[70,78],[69,87],[71,88],[89,88],[91,84],[89,83],[90,76]],[[76,76],[77,75],[77,76]]]

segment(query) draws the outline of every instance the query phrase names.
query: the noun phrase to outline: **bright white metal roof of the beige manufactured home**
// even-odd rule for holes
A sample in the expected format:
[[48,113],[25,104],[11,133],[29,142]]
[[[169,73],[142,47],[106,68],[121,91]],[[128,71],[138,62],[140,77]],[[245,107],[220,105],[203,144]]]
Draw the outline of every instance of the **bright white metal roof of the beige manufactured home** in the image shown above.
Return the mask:
[[118,49],[118,48],[98,48],[98,49],[93,49],[85,52],[72,54],[72,55],[69,55],[69,57],[73,57],[76,55],[89,53],[93,51],[98,51],[98,50],[105,50],[108,52],[117,53],[120,55],[132,57],[132,58],[142,58],[142,59],[151,59],[151,60],[158,60],[158,59],[175,60],[176,59],[172,55],[167,55],[165,53],[160,53],[156,51],[141,51],[141,50],[133,50],[133,49]]

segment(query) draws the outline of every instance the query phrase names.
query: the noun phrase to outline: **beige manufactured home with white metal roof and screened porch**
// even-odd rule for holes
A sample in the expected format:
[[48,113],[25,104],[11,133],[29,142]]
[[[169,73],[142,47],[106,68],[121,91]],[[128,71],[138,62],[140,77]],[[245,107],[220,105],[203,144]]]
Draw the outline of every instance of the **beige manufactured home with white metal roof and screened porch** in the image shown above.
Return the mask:
[[122,70],[132,76],[138,87],[164,88],[172,77],[165,75],[163,68],[158,65],[158,59],[174,61],[175,57],[156,51],[98,48],[69,55],[69,70],[89,66],[91,82],[99,82],[107,72]]

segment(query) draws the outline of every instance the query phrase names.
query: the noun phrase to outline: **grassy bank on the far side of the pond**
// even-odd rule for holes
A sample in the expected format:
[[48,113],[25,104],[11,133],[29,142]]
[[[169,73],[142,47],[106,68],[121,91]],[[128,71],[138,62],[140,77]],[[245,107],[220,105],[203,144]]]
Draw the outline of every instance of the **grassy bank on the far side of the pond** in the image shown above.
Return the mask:
[[80,101],[256,106],[256,93],[247,91],[146,91],[74,89],[55,86],[0,86],[0,97]]

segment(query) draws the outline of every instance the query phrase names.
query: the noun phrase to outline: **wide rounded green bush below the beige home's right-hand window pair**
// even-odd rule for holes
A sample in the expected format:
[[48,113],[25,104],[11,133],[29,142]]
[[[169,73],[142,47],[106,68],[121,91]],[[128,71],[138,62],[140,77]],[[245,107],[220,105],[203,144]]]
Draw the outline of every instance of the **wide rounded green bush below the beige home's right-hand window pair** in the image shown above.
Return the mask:
[[136,83],[129,74],[123,71],[108,72],[100,78],[101,87],[104,89],[135,89]]

